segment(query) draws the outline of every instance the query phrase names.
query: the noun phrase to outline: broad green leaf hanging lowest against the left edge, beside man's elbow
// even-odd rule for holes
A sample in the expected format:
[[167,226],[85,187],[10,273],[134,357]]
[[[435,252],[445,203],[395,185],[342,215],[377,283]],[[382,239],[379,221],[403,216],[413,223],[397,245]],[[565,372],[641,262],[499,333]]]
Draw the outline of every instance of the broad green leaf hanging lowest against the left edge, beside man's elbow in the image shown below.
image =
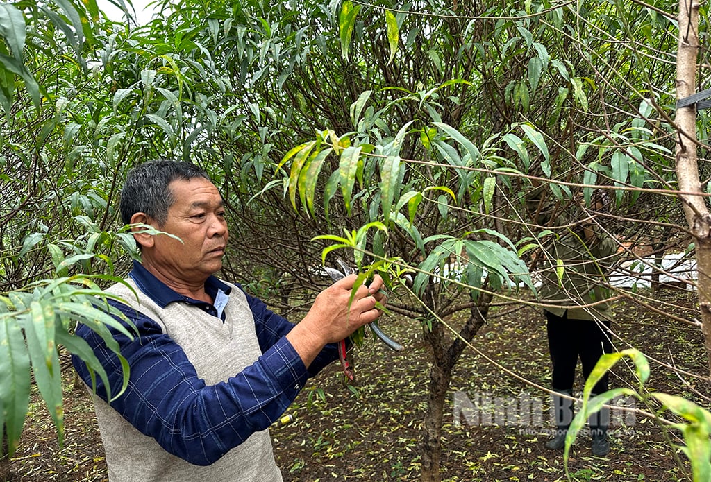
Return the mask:
[[[9,455],[17,449],[30,400],[30,358],[13,313],[0,315],[0,432],[3,424]],[[0,455],[2,448],[0,447]]]

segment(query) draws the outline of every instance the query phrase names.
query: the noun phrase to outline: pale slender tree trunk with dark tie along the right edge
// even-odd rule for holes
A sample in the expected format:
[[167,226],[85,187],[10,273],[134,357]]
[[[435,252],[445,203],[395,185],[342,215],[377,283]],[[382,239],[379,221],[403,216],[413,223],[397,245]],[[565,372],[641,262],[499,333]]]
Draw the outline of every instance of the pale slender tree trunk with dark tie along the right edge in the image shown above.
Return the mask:
[[[685,99],[695,93],[696,60],[699,50],[699,2],[679,2],[679,43],[676,57],[676,97]],[[711,216],[701,183],[696,156],[696,105],[676,111],[678,128],[676,173],[680,199],[696,245],[699,309],[711,375]]]

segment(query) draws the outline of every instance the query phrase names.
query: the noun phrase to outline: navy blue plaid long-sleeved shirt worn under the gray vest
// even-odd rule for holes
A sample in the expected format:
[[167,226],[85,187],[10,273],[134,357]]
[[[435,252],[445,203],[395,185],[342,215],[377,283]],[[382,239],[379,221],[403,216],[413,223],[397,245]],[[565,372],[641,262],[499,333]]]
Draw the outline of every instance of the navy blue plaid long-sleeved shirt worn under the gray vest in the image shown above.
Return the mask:
[[[205,282],[205,290],[218,307],[178,294],[140,263],[134,263],[130,276],[161,307],[173,302],[188,303],[215,317],[224,317],[222,307],[231,288],[214,276]],[[130,380],[127,390],[111,406],[142,433],[154,437],[166,451],[191,464],[212,464],[252,433],[269,427],[287,410],[306,380],[338,358],[336,345],[328,345],[307,369],[285,338],[294,325],[268,310],[261,300],[247,295],[247,301],[262,356],[227,382],[205,385],[181,346],[164,334],[159,324],[127,305],[109,300],[134,325],[129,332],[133,333],[134,328],[138,332],[129,339],[112,330],[129,363]],[[117,356],[107,349],[101,336],[85,325],[80,324],[75,333],[87,341],[105,368],[111,393],[119,393],[123,373]],[[73,356],[73,364],[82,380],[92,386],[85,363]],[[169,400],[173,402],[169,403],[164,401],[164,394],[171,387]],[[96,393],[107,400],[100,377],[96,377]],[[176,416],[181,412],[193,416]],[[180,427],[176,426],[178,423]]]

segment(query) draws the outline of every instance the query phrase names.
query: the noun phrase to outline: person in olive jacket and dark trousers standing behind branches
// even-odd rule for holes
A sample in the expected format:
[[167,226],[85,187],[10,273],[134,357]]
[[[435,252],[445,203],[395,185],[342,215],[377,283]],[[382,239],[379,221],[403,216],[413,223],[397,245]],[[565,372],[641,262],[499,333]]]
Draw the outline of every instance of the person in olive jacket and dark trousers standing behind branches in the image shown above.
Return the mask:
[[[567,429],[574,415],[573,385],[578,358],[582,374],[588,378],[600,356],[612,351],[610,324],[613,318],[603,286],[609,258],[617,250],[614,239],[607,236],[596,219],[595,212],[609,206],[606,192],[596,190],[590,209],[585,209],[582,197],[570,204],[569,212],[559,203],[546,204],[542,190],[528,198],[528,207],[537,215],[538,224],[547,226],[553,234],[544,243],[542,256],[542,286],[540,302],[544,304],[547,338],[552,363],[552,401],[555,412],[555,435],[545,444],[552,450],[565,447]],[[560,211],[556,212],[556,209]],[[594,386],[592,394],[608,390],[605,374]],[[588,420],[592,437],[592,454],[609,452],[609,410],[603,408]]]

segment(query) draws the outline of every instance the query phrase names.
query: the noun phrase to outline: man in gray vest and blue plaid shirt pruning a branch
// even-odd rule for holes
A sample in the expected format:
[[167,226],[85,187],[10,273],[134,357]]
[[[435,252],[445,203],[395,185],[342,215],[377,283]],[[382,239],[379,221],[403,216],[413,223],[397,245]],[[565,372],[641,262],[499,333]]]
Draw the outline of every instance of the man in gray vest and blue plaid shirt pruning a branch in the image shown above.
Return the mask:
[[[383,280],[354,286],[351,275],[326,288],[298,324],[267,310],[237,285],[215,278],[228,243],[223,199],[203,170],[158,160],[129,172],[121,195],[141,263],[108,291],[137,330],[114,333],[130,367],[128,388],[95,408],[109,481],[281,481],[267,427],[306,380],[337,358],[335,343],[380,317]],[[178,238],[178,239],[176,239]],[[355,297],[351,299],[351,290]],[[130,330],[129,330],[130,331]],[[92,347],[118,393],[117,356],[91,329]],[[92,376],[73,359],[87,385]]]

